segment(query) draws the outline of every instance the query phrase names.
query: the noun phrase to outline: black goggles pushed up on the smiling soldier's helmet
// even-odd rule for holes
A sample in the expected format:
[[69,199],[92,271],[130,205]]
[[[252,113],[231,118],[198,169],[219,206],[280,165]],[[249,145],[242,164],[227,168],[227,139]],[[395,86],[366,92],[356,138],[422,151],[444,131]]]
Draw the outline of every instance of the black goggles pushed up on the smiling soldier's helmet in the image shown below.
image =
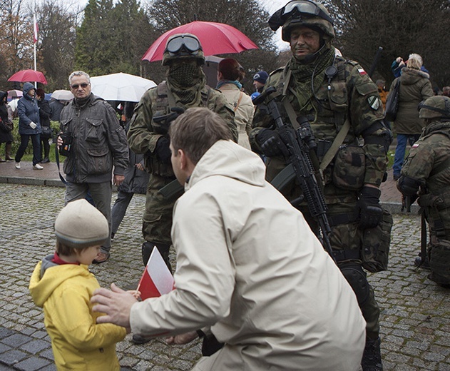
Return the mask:
[[269,26],[273,31],[277,31],[279,27],[285,24],[287,19],[290,19],[296,14],[310,17],[317,16],[333,24],[331,17],[320,9],[315,2],[309,0],[293,0],[272,14],[269,19]]

